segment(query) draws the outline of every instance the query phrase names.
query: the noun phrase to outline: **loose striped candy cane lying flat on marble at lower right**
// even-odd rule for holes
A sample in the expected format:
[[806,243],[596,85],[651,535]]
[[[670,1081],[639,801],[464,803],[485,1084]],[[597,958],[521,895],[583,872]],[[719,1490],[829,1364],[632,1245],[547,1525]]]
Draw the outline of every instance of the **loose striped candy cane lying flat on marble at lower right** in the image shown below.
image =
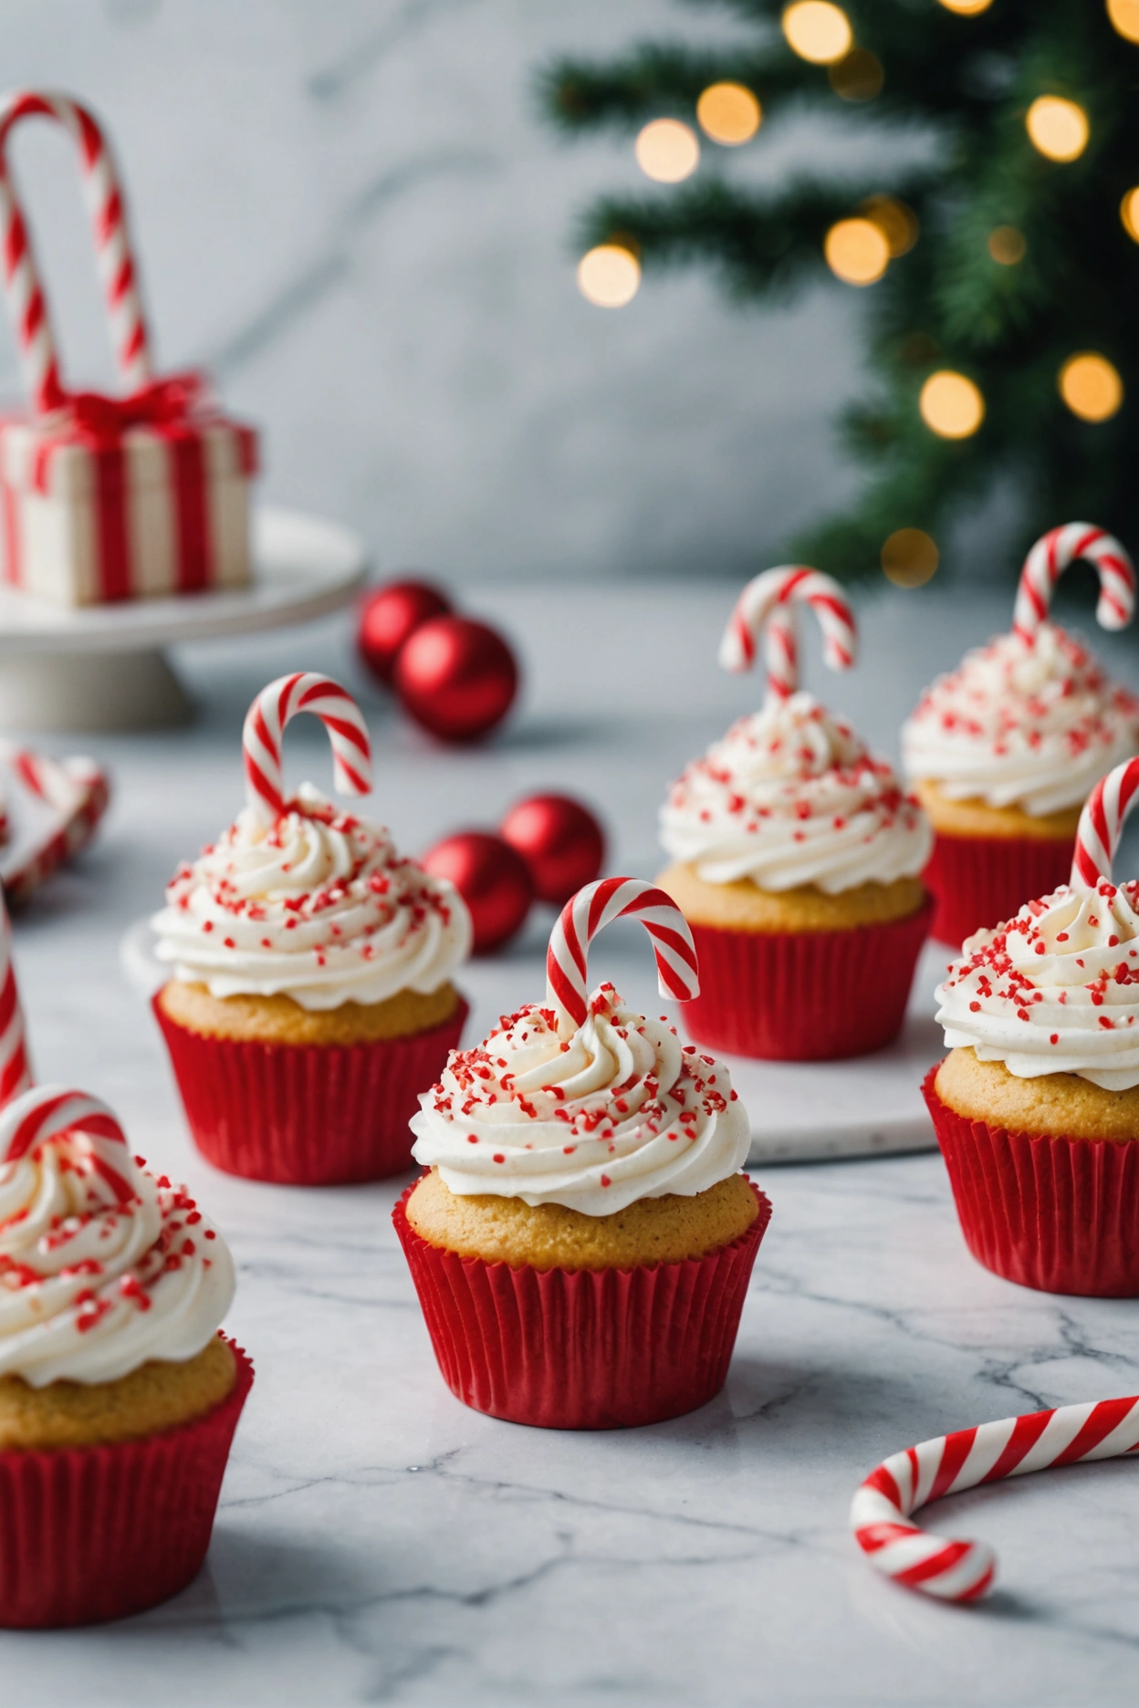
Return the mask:
[[996,1576],[992,1549],[926,1535],[910,1513],[982,1483],[1115,1459],[1137,1447],[1139,1394],[955,1430],[893,1454],[873,1471],[850,1505],[850,1529],[871,1565],[895,1583],[941,1600],[977,1600]]

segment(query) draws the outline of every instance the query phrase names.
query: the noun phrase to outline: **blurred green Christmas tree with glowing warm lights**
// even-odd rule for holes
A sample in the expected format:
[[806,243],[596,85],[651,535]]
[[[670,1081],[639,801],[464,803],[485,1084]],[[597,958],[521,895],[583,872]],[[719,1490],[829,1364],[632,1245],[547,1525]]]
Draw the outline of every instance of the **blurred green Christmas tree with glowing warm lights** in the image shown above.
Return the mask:
[[[1139,0],[724,5],[738,46],[543,72],[558,126],[637,133],[659,181],[586,212],[582,289],[616,302],[637,266],[693,261],[739,299],[820,275],[864,289],[873,389],[840,418],[864,480],[789,541],[804,562],[917,584],[996,482],[1021,497],[1025,545],[1079,518],[1139,550]],[[733,157],[791,108],[931,147],[893,174],[837,147],[832,171],[746,184]]]

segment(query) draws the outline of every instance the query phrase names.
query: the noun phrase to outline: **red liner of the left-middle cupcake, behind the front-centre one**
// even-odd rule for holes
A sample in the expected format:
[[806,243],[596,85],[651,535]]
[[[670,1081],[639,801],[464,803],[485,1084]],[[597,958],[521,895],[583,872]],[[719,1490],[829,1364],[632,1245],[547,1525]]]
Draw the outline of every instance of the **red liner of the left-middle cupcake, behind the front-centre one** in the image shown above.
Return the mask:
[[468,1006],[379,1044],[254,1044],[178,1025],[152,1003],[186,1120],[225,1173],[278,1185],[350,1185],[406,1173],[408,1120],[458,1045]]

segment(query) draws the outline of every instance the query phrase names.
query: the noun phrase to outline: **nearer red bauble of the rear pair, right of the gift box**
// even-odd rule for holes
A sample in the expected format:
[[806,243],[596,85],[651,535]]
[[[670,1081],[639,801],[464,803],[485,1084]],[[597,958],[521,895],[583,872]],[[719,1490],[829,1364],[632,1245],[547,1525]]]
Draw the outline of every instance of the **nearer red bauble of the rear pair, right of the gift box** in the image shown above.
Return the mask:
[[396,661],[396,693],[423,729],[476,741],[517,693],[517,664],[502,635],[470,617],[432,617]]

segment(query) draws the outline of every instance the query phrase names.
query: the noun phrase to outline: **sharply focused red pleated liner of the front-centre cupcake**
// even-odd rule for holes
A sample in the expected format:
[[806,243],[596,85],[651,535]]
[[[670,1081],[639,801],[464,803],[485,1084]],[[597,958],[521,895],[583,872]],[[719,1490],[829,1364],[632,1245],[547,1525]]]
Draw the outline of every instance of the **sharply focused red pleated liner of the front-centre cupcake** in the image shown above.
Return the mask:
[[680,1418],[722,1389],[772,1220],[755,1185],[760,1213],[733,1245],[635,1269],[459,1257],[415,1231],[405,1208],[413,1190],[391,1218],[439,1370],[464,1406],[541,1430],[622,1430]]

